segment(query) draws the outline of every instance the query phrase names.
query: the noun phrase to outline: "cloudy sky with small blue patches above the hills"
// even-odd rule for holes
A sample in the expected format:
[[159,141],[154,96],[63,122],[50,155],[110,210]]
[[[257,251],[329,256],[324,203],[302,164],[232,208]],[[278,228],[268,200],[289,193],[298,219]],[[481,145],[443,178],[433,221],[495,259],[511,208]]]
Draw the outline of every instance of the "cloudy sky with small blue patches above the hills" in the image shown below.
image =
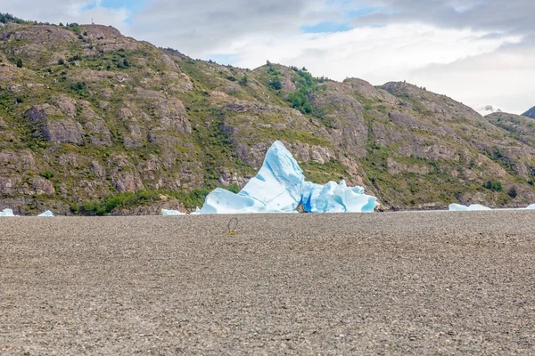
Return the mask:
[[535,105],[533,0],[0,0],[0,12],[111,25],[195,59],[403,81],[482,109]]

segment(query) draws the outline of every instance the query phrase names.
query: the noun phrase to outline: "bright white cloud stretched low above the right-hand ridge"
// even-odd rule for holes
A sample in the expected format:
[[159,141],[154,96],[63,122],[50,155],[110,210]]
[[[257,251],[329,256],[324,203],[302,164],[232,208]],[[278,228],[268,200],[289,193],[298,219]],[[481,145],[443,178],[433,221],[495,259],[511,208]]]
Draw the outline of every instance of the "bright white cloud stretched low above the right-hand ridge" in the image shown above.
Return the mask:
[[[491,53],[519,36],[486,37],[483,32],[441,29],[423,24],[394,24],[382,28],[354,28],[331,34],[251,37],[227,48],[238,54],[240,67],[256,67],[266,60],[309,68],[333,79],[363,77],[374,84],[407,79],[429,63]],[[276,43],[276,46],[274,45]]]

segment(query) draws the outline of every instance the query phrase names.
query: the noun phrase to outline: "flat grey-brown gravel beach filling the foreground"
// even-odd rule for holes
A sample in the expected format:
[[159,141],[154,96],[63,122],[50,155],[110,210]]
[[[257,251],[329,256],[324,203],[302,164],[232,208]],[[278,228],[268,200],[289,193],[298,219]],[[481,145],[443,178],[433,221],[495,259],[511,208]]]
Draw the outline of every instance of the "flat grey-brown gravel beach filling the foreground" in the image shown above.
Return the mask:
[[535,355],[535,211],[0,218],[0,354]]

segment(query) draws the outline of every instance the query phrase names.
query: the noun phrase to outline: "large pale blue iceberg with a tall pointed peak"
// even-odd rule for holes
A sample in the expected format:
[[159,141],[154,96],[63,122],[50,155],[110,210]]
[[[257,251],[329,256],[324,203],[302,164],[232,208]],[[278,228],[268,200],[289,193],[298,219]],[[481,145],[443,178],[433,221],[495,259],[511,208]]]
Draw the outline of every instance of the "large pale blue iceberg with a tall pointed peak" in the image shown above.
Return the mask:
[[302,204],[308,213],[373,212],[376,198],[344,181],[325,185],[306,182],[300,166],[281,142],[266,153],[259,173],[237,194],[217,188],[193,214],[295,213]]

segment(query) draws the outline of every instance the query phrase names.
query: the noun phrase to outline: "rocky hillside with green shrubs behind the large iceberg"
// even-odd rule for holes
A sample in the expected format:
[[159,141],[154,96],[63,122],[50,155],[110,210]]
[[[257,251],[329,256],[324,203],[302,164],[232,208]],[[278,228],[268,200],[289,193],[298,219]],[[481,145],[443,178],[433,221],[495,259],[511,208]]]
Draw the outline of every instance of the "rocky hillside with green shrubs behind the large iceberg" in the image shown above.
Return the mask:
[[407,83],[195,61],[100,25],[0,26],[0,208],[192,208],[243,186],[275,140],[309,180],[364,185],[384,209],[535,202],[525,120]]

